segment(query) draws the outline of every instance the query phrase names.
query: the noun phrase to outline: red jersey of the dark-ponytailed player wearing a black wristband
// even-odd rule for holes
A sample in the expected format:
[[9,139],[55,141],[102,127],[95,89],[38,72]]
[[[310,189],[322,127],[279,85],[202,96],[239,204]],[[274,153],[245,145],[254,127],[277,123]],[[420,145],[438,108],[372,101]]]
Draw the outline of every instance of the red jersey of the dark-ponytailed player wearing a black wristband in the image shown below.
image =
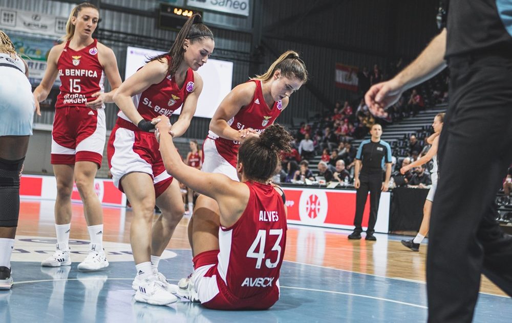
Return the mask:
[[[166,56],[170,63],[170,56]],[[162,114],[170,117],[177,110],[186,97],[194,91],[194,71],[188,68],[185,82],[180,88],[176,81],[167,75],[160,83],[153,84],[141,94],[132,97],[133,103],[142,118],[152,120]],[[130,121],[122,111],[117,114],[120,118]]]

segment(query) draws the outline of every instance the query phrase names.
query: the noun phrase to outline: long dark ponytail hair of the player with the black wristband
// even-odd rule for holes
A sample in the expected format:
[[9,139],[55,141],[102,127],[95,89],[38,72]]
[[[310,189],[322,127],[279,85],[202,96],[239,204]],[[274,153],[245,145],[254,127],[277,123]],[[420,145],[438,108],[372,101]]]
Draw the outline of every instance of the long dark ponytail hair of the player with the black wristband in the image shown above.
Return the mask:
[[188,39],[190,43],[195,43],[196,41],[203,41],[206,38],[214,40],[214,33],[212,33],[211,30],[203,24],[201,15],[199,13],[195,13],[188,18],[180,29],[180,32],[178,33],[178,36],[176,36],[170,50],[167,53],[151,58],[149,61],[159,60],[160,62],[164,62],[164,57],[172,57],[172,61],[167,69],[167,75],[173,76],[176,71],[178,71],[178,66],[180,66],[183,61],[183,53],[185,52],[183,49],[183,43],[185,42],[185,39]]

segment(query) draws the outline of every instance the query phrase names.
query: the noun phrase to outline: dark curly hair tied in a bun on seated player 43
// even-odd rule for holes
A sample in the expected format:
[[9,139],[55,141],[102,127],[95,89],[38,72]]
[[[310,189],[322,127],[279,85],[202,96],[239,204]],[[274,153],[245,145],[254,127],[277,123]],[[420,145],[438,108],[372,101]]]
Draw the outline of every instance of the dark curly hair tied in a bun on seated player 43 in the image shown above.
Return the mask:
[[238,162],[244,166],[245,177],[266,182],[280,163],[279,153],[291,150],[292,140],[292,135],[279,124],[268,127],[260,137],[247,139],[238,152]]

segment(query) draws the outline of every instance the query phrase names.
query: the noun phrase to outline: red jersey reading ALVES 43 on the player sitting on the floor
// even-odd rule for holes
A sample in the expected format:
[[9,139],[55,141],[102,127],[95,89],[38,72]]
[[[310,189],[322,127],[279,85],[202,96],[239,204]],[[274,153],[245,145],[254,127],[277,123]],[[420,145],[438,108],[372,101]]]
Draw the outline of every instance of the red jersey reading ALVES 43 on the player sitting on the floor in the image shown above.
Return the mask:
[[282,197],[270,184],[245,182],[250,190],[242,217],[219,229],[218,280],[247,298],[279,289],[279,271],[286,245],[286,214]]

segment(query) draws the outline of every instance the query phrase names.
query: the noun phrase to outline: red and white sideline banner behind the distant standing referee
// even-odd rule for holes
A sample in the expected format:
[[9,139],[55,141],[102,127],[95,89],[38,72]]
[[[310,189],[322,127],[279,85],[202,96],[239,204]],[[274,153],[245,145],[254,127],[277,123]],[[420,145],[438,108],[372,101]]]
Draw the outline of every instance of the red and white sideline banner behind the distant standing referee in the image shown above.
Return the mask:
[[[331,228],[354,228],[354,190],[327,190],[281,187],[286,195],[288,223]],[[380,194],[375,232],[389,232],[391,193]],[[368,226],[370,198],[367,199],[362,217],[364,229]]]

